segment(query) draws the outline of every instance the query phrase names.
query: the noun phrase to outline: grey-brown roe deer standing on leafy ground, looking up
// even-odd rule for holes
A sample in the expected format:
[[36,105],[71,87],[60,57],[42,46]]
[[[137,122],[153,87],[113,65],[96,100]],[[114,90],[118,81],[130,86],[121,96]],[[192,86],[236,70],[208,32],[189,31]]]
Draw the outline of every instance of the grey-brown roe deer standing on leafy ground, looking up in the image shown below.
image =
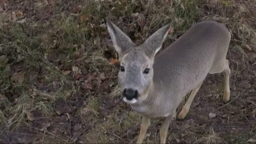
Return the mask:
[[137,143],[142,143],[150,118],[154,117],[165,117],[160,128],[160,141],[165,143],[168,127],[176,119],[176,108],[182,98],[192,91],[179,119],[187,115],[208,73],[224,72],[223,101],[229,101],[228,29],[212,21],[197,23],[155,57],[169,28],[170,24],[160,28],[137,45],[107,20],[113,47],[120,57],[118,83],[123,100],[143,115]]

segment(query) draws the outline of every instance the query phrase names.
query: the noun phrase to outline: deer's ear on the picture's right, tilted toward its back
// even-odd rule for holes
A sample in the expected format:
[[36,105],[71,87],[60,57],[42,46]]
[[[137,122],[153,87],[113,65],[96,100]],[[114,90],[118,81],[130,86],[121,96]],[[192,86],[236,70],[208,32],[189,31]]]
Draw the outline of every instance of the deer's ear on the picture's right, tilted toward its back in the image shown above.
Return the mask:
[[161,49],[170,27],[170,24],[163,26],[147,38],[147,40],[142,44],[149,57],[155,57],[155,54]]

